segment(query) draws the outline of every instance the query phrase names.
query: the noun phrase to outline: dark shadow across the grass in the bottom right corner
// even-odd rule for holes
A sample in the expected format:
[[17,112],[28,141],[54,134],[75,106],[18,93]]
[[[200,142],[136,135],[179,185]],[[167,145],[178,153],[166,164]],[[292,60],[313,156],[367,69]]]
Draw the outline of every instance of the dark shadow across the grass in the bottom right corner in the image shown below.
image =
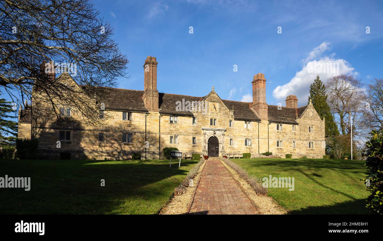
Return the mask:
[[355,199],[334,205],[306,207],[289,214],[369,214],[366,204],[367,199]]

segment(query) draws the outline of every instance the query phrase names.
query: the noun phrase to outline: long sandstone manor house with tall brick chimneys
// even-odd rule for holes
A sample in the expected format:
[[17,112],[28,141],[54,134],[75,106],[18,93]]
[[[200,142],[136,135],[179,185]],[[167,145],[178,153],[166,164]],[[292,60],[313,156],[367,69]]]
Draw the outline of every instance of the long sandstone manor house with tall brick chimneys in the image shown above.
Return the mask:
[[[144,90],[107,88],[107,124],[74,126],[53,115],[47,123],[27,108],[19,113],[18,137],[38,138],[46,159],[131,159],[133,153],[164,159],[165,147],[210,157],[265,151],[293,158],[325,154],[325,120],[313,104],[298,108],[295,95],[287,96],[286,107],[267,104],[264,74],[254,75],[253,101],[248,103],[223,100],[214,87],[200,97],[159,93],[157,64],[155,57],[146,58]],[[57,78],[74,82],[69,74]],[[70,105],[57,107],[65,118],[75,118]]]

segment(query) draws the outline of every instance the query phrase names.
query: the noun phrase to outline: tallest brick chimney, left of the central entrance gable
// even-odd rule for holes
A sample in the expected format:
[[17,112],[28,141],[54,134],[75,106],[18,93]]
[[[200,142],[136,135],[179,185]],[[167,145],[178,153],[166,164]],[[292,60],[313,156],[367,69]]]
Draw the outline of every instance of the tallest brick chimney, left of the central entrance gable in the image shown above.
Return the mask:
[[145,59],[142,99],[149,111],[158,111],[157,64],[155,57],[147,56]]

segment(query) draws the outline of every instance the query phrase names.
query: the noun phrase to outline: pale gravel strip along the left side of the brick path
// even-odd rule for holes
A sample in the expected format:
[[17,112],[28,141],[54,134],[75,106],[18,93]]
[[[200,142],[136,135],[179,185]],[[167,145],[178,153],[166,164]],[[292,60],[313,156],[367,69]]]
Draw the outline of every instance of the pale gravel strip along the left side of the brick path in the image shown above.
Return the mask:
[[203,168],[206,161],[198,169],[198,174],[193,178],[193,186],[185,188],[185,193],[182,195],[173,195],[167,205],[160,210],[159,214],[188,214],[190,204],[193,202],[195,191],[197,190],[198,183],[200,182]]

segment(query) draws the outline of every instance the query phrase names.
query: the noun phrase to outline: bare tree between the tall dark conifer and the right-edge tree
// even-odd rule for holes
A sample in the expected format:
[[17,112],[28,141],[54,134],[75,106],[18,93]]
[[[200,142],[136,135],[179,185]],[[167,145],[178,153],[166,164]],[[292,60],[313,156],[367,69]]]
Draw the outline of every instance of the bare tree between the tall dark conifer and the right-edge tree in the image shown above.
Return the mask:
[[335,76],[327,80],[328,103],[342,135],[351,132],[363,137],[366,130],[365,89],[360,80],[351,75]]

